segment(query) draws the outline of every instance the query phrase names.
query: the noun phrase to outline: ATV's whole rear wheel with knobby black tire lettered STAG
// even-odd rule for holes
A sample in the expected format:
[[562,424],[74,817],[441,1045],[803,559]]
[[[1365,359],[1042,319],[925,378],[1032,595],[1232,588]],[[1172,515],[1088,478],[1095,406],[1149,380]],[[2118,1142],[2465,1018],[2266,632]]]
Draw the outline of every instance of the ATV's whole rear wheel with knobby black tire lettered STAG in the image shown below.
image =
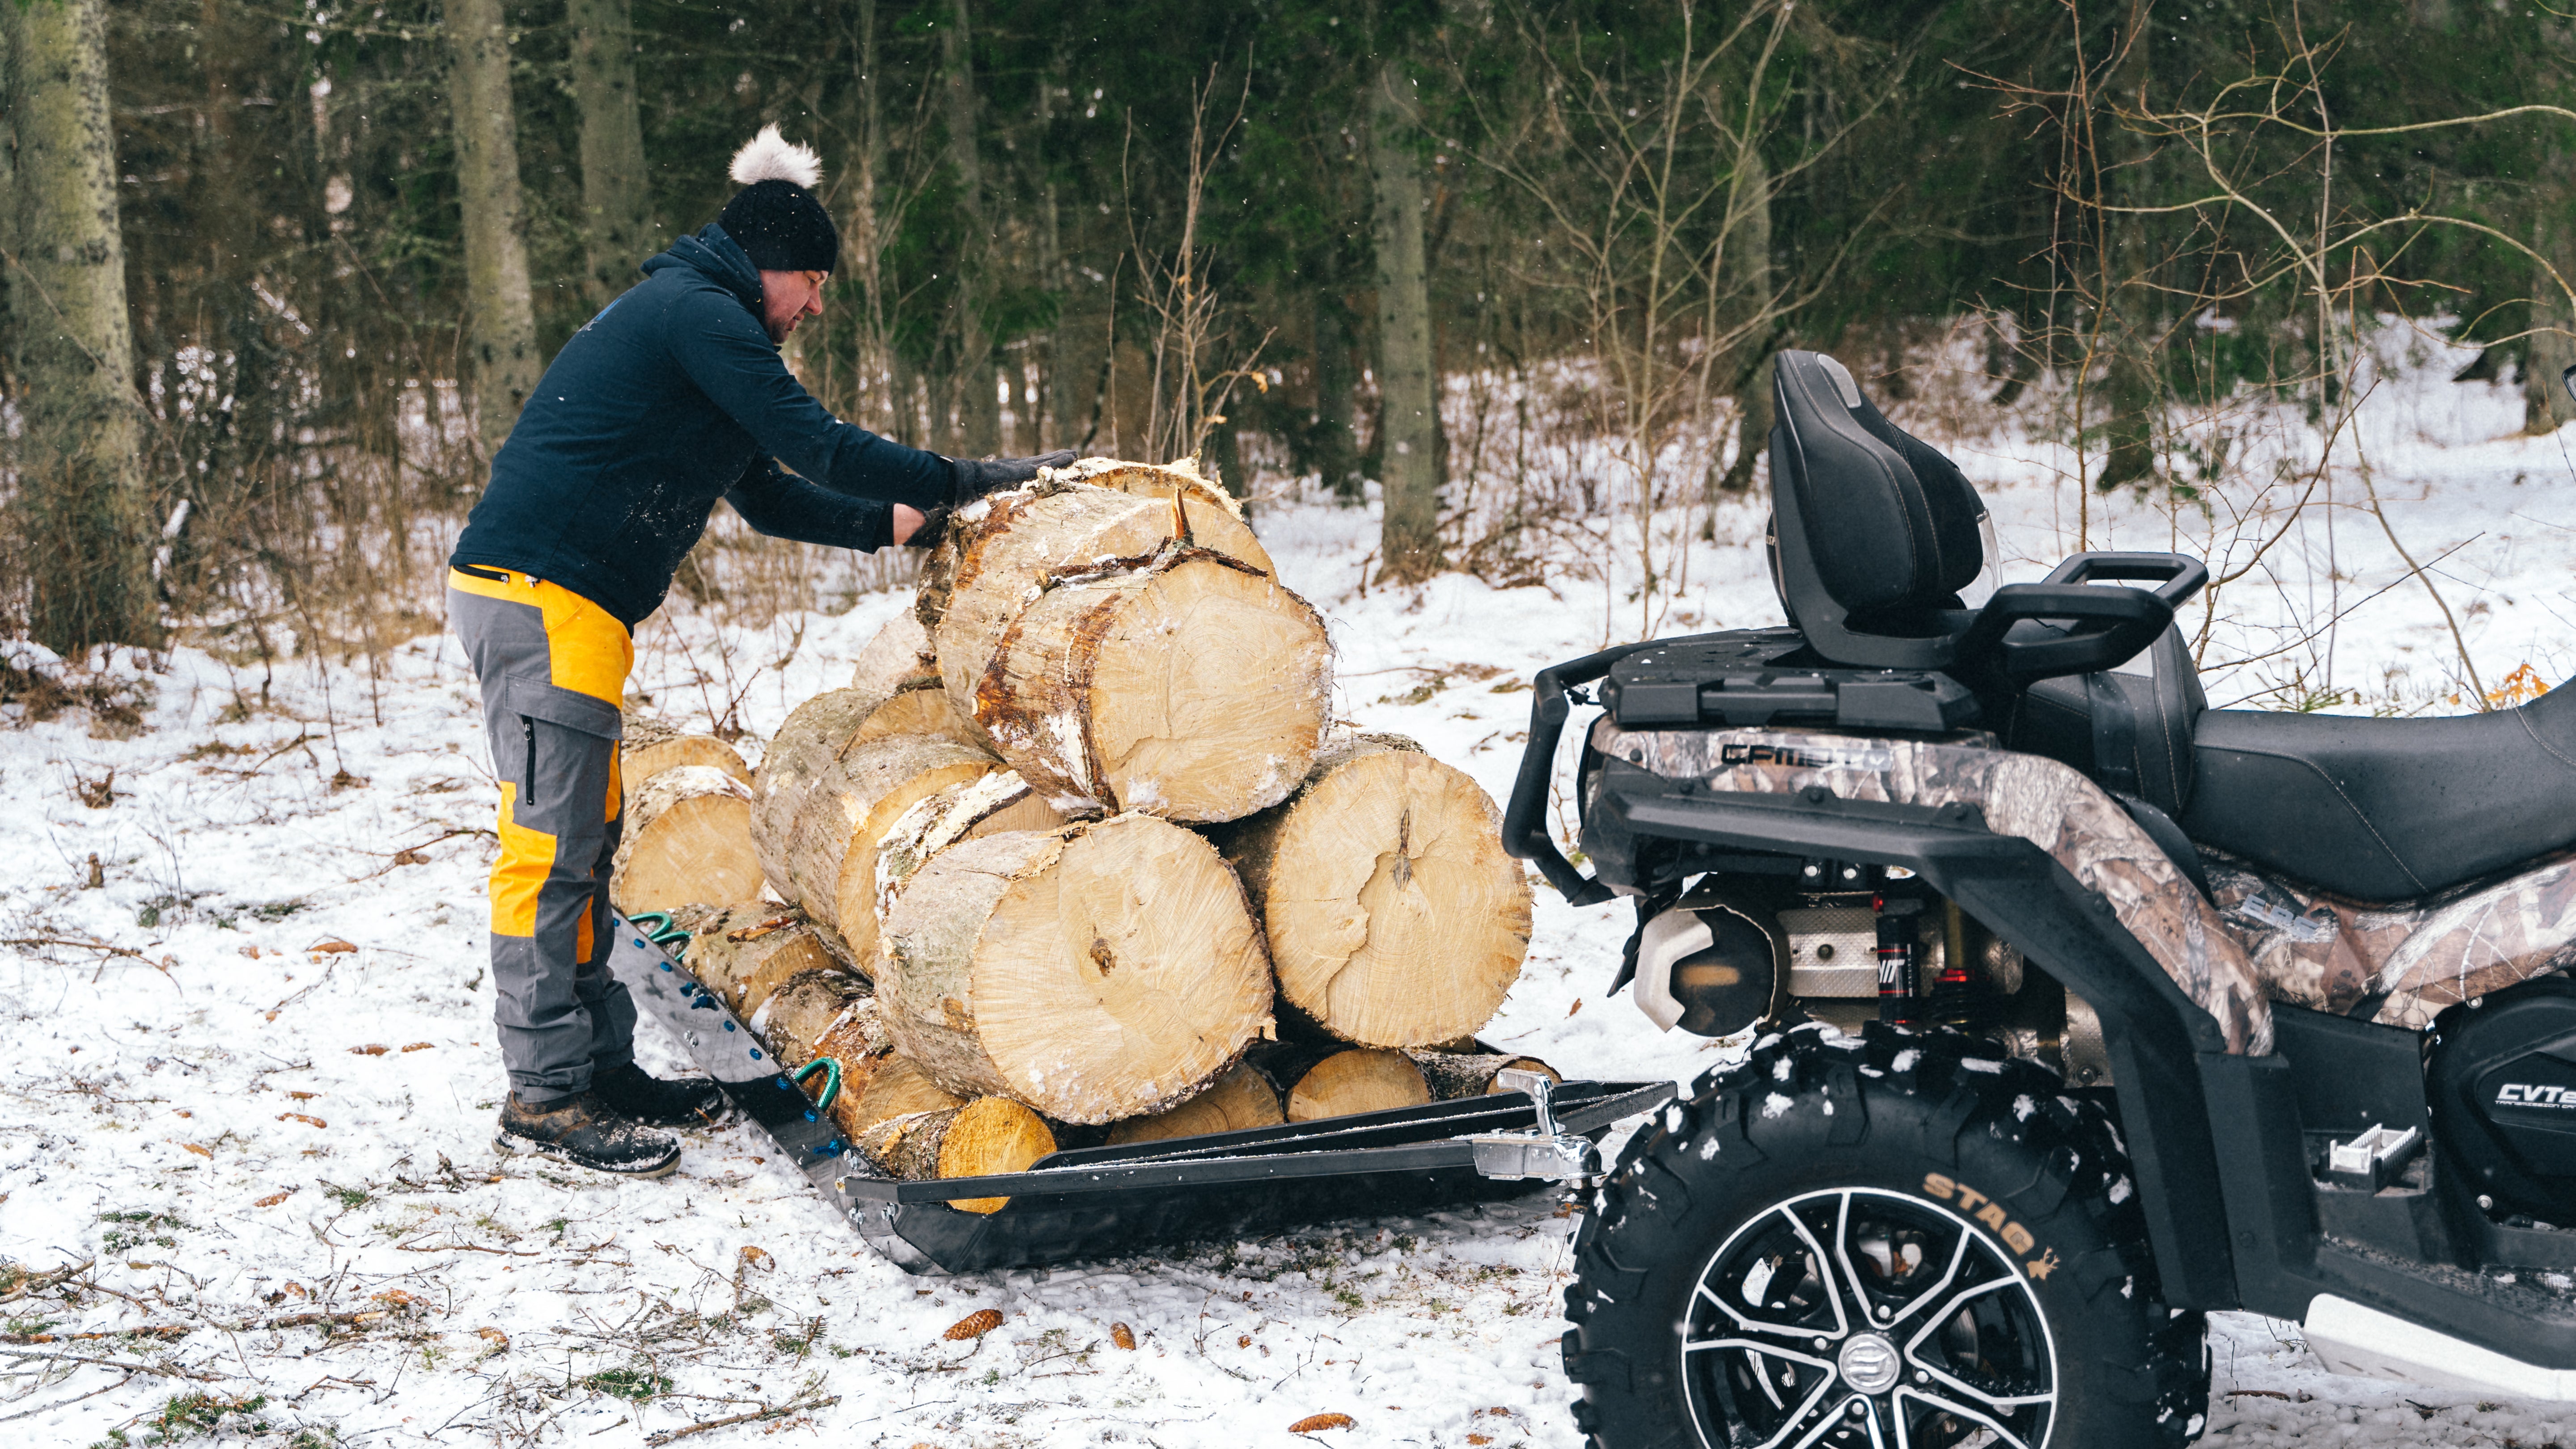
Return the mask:
[[1955,1032],[1703,1076],[1595,1197],[1566,1318],[1597,1449],[2166,1449],[2210,1403],[2110,1117]]

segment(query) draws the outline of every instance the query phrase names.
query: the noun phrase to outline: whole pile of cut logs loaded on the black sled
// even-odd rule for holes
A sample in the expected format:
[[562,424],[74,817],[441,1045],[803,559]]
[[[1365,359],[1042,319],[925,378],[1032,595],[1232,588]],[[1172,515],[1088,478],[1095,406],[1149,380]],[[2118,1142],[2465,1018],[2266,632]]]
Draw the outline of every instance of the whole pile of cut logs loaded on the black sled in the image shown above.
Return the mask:
[[1546,1071],[1473,1040],[1530,937],[1494,803],[1327,734],[1329,669],[1224,492],[1087,458],[961,510],[757,775],[631,726],[613,896],[909,1179]]

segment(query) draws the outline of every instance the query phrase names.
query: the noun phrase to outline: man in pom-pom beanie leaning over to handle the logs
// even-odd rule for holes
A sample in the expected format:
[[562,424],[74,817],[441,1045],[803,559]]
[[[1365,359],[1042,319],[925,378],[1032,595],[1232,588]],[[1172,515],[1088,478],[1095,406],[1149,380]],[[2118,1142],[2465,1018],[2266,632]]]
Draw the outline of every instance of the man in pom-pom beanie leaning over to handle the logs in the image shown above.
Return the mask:
[[608,975],[634,625],[719,497],[775,538],[922,546],[958,504],[1074,458],[943,458],[824,412],[778,358],[840,260],[811,190],[822,165],[768,126],[732,175],[742,190],[716,224],[644,263],[644,283],[546,368],[448,561],[500,777],[492,983],[510,1099],[495,1145],[629,1176],[680,1161],[652,1127],[724,1107],[711,1081],[634,1066],[636,1009]]

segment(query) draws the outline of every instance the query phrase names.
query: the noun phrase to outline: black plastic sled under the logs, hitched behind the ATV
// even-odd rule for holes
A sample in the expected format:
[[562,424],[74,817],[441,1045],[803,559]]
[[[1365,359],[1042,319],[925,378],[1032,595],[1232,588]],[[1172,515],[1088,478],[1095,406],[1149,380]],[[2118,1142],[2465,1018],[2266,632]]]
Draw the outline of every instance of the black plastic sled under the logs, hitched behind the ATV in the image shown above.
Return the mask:
[[[1028,1171],[896,1181],[848,1150],[778,1060],[641,929],[616,921],[608,970],[639,1014],[760,1122],[871,1248],[907,1271],[984,1271],[1103,1259],[1337,1217],[1435,1212],[1525,1197],[1597,1171],[1592,1140],[1672,1102],[1669,1081],[1566,1081],[1319,1122],[1072,1148]],[[1546,1127],[1553,1127],[1546,1130]],[[956,1199],[1007,1202],[963,1212]]]

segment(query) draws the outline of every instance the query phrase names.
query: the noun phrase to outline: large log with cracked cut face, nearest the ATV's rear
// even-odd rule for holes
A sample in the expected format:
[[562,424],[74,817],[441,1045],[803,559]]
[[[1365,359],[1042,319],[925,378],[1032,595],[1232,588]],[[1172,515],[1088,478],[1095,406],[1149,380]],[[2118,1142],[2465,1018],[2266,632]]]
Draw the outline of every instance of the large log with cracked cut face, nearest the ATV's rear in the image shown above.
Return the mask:
[[1401,736],[1340,736],[1296,795],[1208,831],[1242,872],[1280,999],[1340,1040],[1473,1035],[1530,950],[1530,883],[1476,782]]

